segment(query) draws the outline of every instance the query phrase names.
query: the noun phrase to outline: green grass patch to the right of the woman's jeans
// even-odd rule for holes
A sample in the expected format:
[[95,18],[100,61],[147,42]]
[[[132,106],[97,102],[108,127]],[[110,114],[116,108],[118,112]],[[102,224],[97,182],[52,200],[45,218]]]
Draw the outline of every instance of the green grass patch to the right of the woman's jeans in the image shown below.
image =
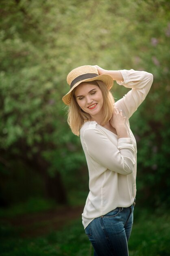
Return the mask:
[[170,215],[138,210],[129,240],[130,256],[170,256]]

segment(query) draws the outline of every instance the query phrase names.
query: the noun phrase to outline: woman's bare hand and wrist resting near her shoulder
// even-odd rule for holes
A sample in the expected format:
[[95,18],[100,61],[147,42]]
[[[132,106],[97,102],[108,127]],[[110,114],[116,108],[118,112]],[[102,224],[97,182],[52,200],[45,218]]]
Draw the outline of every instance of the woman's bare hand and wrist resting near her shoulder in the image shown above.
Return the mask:
[[122,110],[118,110],[116,106],[114,107],[113,115],[110,119],[110,124],[116,129],[118,138],[128,138],[128,132],[125,125],[126,117],[123,116]]

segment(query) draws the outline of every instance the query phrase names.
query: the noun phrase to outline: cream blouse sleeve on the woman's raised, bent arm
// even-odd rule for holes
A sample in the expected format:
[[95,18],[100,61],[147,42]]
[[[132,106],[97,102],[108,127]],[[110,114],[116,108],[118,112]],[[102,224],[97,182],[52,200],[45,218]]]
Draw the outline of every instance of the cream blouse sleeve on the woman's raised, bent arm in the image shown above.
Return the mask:
[[116,102],[118,109],[130,118],[144,101],[153,83],[153,75],[145,71],[120,70],[124,81],[117,81],[119,85],[132,88],[124,97]]

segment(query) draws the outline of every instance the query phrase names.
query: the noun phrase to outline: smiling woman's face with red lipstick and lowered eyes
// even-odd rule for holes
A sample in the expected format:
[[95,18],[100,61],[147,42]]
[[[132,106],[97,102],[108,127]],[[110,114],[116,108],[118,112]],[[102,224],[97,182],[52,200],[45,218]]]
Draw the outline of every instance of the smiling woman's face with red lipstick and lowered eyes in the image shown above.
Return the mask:
[[80,108],[91,117],[102,116],[103,96],[97,85],[82,83],[75,89],[75,98]]

